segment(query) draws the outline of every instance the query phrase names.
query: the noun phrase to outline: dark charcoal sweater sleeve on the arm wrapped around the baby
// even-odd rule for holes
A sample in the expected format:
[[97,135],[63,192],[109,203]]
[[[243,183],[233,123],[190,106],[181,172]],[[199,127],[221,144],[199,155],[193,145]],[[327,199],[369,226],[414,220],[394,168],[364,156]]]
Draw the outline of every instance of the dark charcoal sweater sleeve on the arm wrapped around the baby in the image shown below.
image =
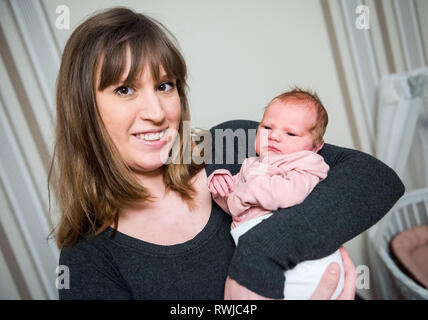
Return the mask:
[[[216,130],[243,128],[248,132],[256,127],[251,121],[229,121],[211,133],[214,141]],[[220,167],[232,174],[239,170],[240,142],[247,141],[238,137],[233,164],[213,163],[207,173]],[[219,145],[213,142],[214,153],[221,151]],[[254,141],[248,141],[248,152],[254,152],[253,145]],[[379,221],[404,193],[395,172],[368,154],[328,144],[319,153],[330,166],[327,178],[303,203],[277,210],[239,239],[229,276],[260,295],[283,298],[285,270],[333,253]]]

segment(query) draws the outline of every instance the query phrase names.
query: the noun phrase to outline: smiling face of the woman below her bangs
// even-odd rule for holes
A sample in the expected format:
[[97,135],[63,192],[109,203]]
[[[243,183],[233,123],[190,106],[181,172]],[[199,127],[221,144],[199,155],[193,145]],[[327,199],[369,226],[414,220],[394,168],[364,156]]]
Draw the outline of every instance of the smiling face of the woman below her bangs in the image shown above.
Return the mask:
[[[129,69],[128,54],[123,79]],[[133,87],[119,83],[97,90],[96,102],[110,138],[134,172],[147,175],[164,165],[161,155],[168,154],[181,118],[175,79],[167,78],[161,68],[160,81],[155,81],[150,68],[145,67]]]

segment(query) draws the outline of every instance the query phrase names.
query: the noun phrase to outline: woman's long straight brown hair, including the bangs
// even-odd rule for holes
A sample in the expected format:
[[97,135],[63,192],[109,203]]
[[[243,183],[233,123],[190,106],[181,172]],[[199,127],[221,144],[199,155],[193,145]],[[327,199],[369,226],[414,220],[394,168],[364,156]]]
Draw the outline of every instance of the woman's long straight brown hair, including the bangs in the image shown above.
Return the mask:
[[[162,66],[176,79],[181,101],[180,148],[183,121],[190,120],[186,97],[186,64],[175,38],[159,22],[127,8],[113,8],[79,25],[64,48],[56,91],[55,147],[48,176],[61,210],[56,230],[59,248],[74,245],[83,235],[96,236],[114,224],[119,211],[137,201],[150,201],[110,139],[98,112],[95,90],[117,84],[123,75],[126,51],[131,69],[125,83],[134,82],[149,66],[159,80]],[[101,70],[96,88],[97,70]],[[176,155],[182,159],[182,152]],[[192,177],[201,165],[173,161],[165,166],[164,182],[193,206]],[[49,188],[50,196],[50,188]]]

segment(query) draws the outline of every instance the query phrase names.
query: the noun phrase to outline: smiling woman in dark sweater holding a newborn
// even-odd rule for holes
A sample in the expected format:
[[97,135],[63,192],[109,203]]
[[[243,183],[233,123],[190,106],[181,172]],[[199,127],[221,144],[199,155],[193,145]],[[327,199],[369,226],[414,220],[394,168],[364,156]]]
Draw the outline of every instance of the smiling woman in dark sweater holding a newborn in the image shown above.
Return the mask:
[[[230,218],[212,204],[207,175],[218,167],[236,173],[239,148],[234,164],[184,161],[186,65],[171,37],[152,19],[116,8],[82,23],[64,48],[50,175],[62,212],[60,264],[70,270],[61,299],[282,298],[284,270],[337,250],[403,193],[376,159],[327,146],[326,181],[235,249]],[[212,129],[212,138],[215,130],[256,126],[227,122]],[[215,145],[212,155],[223,153]],[[344,264],[342,298],[352,298],[355,275],[346,253]],[[314,298],[333,293],[335,268]]]

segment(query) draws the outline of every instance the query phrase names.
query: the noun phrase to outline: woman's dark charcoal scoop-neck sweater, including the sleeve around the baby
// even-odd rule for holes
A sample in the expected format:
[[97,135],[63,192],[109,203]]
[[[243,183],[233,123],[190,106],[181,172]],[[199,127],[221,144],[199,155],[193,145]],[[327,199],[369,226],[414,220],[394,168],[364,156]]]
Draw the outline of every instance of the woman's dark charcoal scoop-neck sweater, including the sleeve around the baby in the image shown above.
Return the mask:
[[[213,148],[215,129],[257,125],[236,120],[212,128]],[[223,152],[226,143],[220,148],[218,142],[212,160],[223,153],[224,161],[207,165],[207,175],[219,168],[236,174],[243,156],[255,155],[254,134],[244,155],[238,145],[246,141],[235,139],[232,164],[224,164],[231,159]],[[160,246],[120,232],[112,238],[109,228],[63,248],[59,264],[70,270],[70,289],[59,290],[60,299],[223,299],[227,275],[261,295],[283,298],[284,270],[333,253],[382,218],[404,192],[397,175],[367,154],[328,144],[319,154],[330,166],[328,177],[302,204],[278,210],[241,236],[236,248],[231,219],[214,202],[207,225],[183,244]]]

